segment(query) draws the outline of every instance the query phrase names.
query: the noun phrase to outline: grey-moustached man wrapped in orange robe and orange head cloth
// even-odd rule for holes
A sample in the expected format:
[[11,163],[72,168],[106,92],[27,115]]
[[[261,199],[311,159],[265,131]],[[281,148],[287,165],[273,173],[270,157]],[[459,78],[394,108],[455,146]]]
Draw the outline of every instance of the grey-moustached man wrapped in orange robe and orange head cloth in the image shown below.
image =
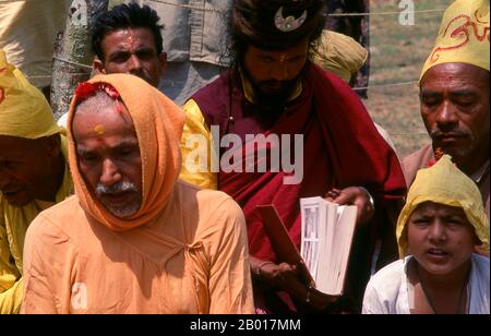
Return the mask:
[[68,119],[75,195],[27,231],[23,312],[253,312],[240,207],[177,180],[183,123],[137,76],[79,86]]

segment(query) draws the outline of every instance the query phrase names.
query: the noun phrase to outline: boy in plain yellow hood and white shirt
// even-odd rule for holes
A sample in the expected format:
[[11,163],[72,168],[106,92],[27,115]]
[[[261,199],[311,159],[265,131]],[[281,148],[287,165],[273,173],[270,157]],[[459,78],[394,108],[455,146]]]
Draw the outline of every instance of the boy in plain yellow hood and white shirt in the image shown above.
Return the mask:
[[403,260],[379,271],[367,314],[489,314],[489,219],[476,183],[448,155],[418,171],[397,221]]

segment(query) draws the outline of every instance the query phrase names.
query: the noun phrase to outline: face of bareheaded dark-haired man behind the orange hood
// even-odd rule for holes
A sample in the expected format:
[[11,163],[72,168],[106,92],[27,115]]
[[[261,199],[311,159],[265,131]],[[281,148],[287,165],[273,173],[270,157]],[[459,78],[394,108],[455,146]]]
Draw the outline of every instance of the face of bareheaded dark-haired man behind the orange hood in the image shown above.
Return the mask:
[[130,73],[157,87],[167,55],[157,55],[152,31],[127,28],[108,33],[103,41],[104,61],[94,61],[100,73]]

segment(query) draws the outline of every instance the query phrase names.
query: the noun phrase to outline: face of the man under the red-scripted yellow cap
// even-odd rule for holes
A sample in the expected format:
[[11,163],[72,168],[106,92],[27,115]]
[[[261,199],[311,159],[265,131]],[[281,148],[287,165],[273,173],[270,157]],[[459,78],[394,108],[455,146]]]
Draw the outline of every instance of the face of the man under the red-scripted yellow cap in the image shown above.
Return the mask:
[[459,166],[489,158],[489,71],[465,63],[435,65],[421,80],[424,125]]

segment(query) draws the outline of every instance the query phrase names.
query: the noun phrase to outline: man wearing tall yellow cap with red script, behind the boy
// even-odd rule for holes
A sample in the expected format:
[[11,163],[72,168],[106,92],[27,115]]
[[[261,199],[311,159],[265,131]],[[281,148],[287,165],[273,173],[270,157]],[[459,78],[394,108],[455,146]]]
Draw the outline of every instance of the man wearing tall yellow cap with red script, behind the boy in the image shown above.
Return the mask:
[[445,11],[420,79],[421,117],[432,144],[404,159],[407,184],[443,153],[479,187],[490,215],[489,0],[457,0]]

